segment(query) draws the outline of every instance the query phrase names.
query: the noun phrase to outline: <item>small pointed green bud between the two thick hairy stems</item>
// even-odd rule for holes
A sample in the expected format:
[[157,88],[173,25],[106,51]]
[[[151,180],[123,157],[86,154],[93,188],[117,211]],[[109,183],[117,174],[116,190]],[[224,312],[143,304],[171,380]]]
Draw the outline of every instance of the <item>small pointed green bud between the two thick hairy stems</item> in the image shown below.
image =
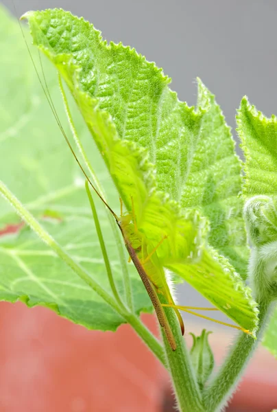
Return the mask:
[[202,330],[200,336],[195,336],[195,334],[191,333],[191,336],[193,336],[191,360],[200,389],[204,389],[204,385],[210,377],[215,365],[213,351],[208,343],[208,335],[210,333],[212,332],[207,332],[205,329]]

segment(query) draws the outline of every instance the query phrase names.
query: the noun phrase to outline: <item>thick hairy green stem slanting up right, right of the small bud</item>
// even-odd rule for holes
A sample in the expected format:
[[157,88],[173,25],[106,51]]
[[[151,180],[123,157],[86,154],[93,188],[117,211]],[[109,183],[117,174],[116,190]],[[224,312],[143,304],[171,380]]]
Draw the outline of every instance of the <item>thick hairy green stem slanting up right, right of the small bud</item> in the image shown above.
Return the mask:
[[243,370],[256,349],[258,341],[261,339],[272,306],[268,302],[263,302],[260,305],[260,323],[257,339],[253,339],[243,332],[239,333],[239,337],[228,354],[226,361],[204,393],[206,412],[221,411],[221,408],[226,405],[226,401],[238,384]]

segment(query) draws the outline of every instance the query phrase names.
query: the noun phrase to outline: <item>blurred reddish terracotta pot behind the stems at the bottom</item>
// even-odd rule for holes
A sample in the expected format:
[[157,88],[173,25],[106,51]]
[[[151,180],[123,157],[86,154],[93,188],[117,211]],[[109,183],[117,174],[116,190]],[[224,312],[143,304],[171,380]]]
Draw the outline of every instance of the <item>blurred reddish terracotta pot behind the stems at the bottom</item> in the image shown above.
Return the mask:
[[[0,313],[0,411],[173,411],[165,370],[128,325],[116,333],[88,331],[21,303],[1,302]],[[143,321],[156,331],[154,316]],[[231,336],[210,335],[217,362]],[[270,354],[260,348],[244,376],[228,411],[276,407],[277,361]]]

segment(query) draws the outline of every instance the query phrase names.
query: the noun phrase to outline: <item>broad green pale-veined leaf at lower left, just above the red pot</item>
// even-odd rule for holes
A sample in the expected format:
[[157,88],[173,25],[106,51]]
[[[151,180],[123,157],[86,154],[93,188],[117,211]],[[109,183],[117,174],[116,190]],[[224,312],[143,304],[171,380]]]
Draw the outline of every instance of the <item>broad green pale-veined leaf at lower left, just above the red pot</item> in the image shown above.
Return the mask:
[[[90,214],[67,216],[57,222],[42,220],[41,223],[75,262],[93,273],[93,279],[97,279],[104,290],[110,290]],[[122,295],[122,273],[116,249],[109,247],[109,252],[115,281]],[[119,314],[28,227],[18,234],[0,238],[0,262],[0,300],[21,300],[29,307],[47,306],[89,329],[116,330],[123,323]],[[150,311],[151,304],[141,281],[135,271],[131,272],[136,312]]]

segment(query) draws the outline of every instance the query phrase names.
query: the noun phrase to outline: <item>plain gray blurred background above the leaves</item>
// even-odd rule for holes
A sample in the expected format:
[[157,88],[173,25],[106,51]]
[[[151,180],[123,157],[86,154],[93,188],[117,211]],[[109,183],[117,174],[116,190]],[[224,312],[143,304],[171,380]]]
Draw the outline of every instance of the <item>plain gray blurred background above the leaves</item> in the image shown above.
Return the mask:
[[[265,115],[277,114],[276,0],[14,0],[16,10],[12,0],[2,3],[17,16],[54,7],[84,16],[108,41],[122,41],[154,60],[172,78],[171,89],[190,105],[196,103],[199,76],[215,93],[236,139],[235,114],[243,95]],[[205,305],[187,284],[179,286],[178,300]]]

